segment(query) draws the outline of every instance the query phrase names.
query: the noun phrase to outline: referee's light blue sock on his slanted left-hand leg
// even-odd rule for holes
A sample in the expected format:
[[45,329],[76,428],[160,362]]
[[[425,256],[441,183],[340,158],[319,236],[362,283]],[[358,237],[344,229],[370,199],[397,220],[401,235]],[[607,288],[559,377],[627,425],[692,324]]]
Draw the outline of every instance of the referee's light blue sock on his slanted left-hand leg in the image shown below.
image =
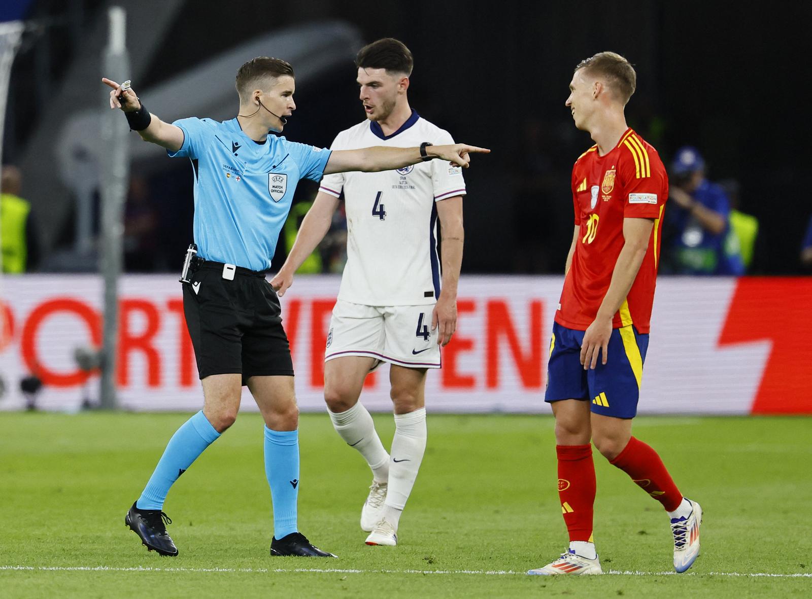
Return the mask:
[[158,460],[153,476],[149,477],[149,482],[138,498],[136,507],[139,510],[162,510],[166,493],[169,493],[169,488],[175,480],[178,480],[197,456],[219,436],[220,433],[214,430],[202,410],[184,422],[166,444],[166,450]]

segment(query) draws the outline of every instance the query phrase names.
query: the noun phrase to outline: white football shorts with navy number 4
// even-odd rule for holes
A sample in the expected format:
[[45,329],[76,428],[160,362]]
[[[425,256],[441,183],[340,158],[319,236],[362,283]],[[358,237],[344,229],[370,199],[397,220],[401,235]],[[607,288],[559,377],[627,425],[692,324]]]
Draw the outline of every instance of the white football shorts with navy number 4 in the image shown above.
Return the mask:
[[440,368],[438,331],[431,330],[434,304],[365,306],[335,302],[324,360],[369,356],[374,367],[389,362],[407,368]]

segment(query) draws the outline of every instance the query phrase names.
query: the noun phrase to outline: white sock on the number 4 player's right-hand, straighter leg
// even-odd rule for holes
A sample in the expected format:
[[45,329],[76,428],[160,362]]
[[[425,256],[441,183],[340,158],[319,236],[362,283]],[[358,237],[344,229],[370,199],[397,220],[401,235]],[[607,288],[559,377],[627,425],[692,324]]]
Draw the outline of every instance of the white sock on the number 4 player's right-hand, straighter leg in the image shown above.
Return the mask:
[[395,437],[389,463],[387,507],[403,510],[412,493],[425,453],[425,407],[408,414],[395,414]]

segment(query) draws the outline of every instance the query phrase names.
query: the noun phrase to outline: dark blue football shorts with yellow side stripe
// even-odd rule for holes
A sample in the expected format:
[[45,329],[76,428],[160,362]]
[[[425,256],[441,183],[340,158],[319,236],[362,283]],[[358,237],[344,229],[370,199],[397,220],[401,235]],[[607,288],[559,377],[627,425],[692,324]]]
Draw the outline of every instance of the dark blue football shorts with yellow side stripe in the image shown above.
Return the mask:
[[580,358],[584,333],[553,323],[544,401],[580,399],[590,402],[596,414],[637,416],[649,335],[638,333],[634,325],[612,330],[607,363],[603,364],[603,356],[598,355],[594,370],[584,370]]

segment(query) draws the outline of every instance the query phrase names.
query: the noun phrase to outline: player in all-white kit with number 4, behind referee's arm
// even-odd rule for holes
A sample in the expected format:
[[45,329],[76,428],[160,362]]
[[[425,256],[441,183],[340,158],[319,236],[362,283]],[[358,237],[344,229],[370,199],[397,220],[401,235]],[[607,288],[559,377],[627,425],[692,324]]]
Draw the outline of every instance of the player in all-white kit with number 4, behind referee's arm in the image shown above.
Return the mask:
[[[325,176],[271,285],[283,295],[329,229],[343,193],[348,259],[326,343],[325,400],[336,431],[373,472],[361,511],[361,528],[370,533],[366,544],[397,545],[400,514],[425,452],[426,372],[440,368],[440,346],[456,328],[465,183],[459,167],[431,160],[432,144],[453,141],[408,105],[408,48],[391,38],[378,40],[359,51],[356,65],[367,119],[341,131],[331,149],[420,145],[425,162]],[[383,362],[391,364],[395,408],[391,455],[358,400],[366,375]]]

